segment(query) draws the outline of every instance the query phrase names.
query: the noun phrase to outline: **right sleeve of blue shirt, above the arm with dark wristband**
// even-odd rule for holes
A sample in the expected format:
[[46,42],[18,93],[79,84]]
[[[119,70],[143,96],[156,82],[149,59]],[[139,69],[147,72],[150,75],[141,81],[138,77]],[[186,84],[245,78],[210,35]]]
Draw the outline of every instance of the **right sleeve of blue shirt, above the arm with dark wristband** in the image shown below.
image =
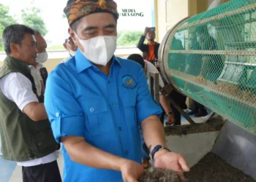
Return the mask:
[[148,118],[149,116],[157,115],[160,117],[162,114],[162,108],[154,100],[148,90],[146,75],[142,68],[140,68],[138,76],[136,113],[139,122],[143,122],[143,120]]

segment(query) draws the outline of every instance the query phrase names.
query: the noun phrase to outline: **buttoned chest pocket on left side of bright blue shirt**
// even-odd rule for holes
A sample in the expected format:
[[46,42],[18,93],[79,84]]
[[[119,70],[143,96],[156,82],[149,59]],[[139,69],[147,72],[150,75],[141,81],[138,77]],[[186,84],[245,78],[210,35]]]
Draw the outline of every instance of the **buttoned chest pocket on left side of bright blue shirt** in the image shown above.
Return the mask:
[[111,124],[106,101],[102,97],[81,100],[81,106],[86,119],[85,135],[103,135],[110,132]]

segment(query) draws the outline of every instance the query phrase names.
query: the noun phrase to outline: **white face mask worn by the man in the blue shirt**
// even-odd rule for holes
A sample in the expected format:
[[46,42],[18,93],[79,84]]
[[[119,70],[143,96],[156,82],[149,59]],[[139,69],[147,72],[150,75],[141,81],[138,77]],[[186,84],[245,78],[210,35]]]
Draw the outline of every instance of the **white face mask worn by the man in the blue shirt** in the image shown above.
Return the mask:
[[79,39],[79,42],[83,46],[83,55],[97,65],[106,66],[116,51],[116,36],[97,36]]

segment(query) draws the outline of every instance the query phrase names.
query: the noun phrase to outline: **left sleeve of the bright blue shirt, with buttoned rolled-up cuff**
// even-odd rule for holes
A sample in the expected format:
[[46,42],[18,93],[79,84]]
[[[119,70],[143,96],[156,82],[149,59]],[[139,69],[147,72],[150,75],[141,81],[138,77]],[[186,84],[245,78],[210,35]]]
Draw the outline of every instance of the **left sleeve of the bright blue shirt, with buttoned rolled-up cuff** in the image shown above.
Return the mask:
[[83,111],[67,76],[57,68],[48,76],[45,88],[45,109],[56,141],[69,135],[84,137]]

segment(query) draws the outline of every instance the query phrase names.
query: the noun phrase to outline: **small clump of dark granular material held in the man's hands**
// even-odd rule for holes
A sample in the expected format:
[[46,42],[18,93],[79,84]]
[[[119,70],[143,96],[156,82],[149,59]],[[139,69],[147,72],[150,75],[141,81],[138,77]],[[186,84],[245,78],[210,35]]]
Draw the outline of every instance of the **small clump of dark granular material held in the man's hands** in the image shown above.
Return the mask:
[[171,170],[156,169],[153,172],[146,171],[139,182],[183,182],[183,180]]

